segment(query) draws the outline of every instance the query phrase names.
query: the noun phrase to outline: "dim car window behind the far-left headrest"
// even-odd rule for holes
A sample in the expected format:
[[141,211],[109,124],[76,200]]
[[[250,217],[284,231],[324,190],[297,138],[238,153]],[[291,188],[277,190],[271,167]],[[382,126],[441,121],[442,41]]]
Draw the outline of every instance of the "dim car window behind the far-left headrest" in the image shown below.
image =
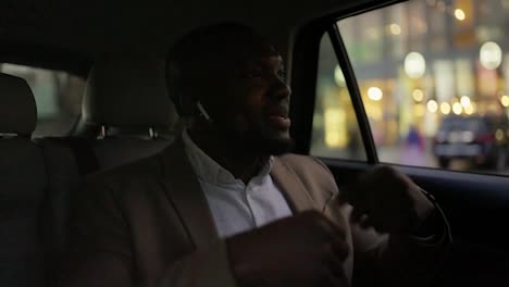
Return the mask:
[[62,71],[0,64],[0,72],[24,78],[34,92],[37,127],[33,137],[64,136],[82,111],[85,80]]

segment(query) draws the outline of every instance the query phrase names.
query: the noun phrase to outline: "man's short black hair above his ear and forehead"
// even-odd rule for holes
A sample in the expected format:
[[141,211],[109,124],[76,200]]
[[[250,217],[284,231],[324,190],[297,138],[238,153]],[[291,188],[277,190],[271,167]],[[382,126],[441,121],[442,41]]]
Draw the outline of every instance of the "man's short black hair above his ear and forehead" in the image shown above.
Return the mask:
[[169,51],[166,58],[166,85],[170,98],[181,116],[186,116],[183,97],[187,85],[196,85],[197,72],[193,67],[210,62],[225,53],[225,42],[235,36],[248,42],[253,39],[269,41],[252,27],[236,23],[222,22],[197,28],[182,37]]

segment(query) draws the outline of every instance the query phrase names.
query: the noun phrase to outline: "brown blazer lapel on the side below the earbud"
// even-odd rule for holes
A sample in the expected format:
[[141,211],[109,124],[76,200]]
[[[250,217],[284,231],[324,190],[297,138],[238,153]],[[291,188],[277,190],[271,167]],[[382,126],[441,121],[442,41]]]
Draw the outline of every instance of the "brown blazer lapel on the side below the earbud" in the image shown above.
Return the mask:
[[187,160],[182,138],[164,151],[164,189],[196,248],[207,247],[219,235],[200,183]]

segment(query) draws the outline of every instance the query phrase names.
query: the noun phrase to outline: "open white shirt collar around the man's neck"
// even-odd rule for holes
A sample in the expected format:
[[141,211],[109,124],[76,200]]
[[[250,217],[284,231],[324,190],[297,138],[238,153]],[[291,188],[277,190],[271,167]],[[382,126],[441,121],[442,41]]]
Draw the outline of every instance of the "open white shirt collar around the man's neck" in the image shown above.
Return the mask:
[[[189,162],[195,170],[196,175],[204,182],[214,185],[227,185],[234,184],[241,180],[235,178],[235,176],[221,166],[218,162],[212,160],[203,150],[201,150],[189,137],[189,134],[184,129],[182,139],[184,141],[184,147],[186,155],[189,159]],[[270,174],[272,171],[274,158],[270,157],[269,161],[263,165],[260,173],[254,178],[263,178]]]

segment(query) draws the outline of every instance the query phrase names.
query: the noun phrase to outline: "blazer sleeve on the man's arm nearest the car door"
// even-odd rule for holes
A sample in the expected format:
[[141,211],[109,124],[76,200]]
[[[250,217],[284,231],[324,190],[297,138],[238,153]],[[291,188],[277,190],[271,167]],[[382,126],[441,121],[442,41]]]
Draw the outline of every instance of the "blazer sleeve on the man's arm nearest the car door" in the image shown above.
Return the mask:
[[[352,286],[431,286],[450,244],[447,224],[442,238],[433,244],[411,236],[392,236],[374,228],[362,228],[351,220],[352,207],[340,196],[333,174],[322,166],[328,173],[332,186],[332,197],[324,210],[328,216],[344,216],[351,233]],[[442,220],[446,223],[445,217]]]

